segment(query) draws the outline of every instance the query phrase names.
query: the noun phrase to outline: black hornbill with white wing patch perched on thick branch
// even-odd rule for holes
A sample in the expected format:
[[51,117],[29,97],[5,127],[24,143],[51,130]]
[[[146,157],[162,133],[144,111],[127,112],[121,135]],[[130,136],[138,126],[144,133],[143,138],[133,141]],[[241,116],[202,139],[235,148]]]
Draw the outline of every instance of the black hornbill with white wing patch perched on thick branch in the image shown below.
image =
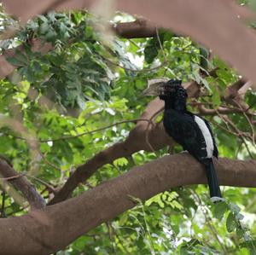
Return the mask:
[[212,157],[218,158],[218,148],[206,119],[190,113],[186,107],[188,94],[181,80],[158,78],[150,80],[143,95],[157,95],[165,101],[164,127],[169,136],[205,166],[212,201],[221,200],[218,177]]

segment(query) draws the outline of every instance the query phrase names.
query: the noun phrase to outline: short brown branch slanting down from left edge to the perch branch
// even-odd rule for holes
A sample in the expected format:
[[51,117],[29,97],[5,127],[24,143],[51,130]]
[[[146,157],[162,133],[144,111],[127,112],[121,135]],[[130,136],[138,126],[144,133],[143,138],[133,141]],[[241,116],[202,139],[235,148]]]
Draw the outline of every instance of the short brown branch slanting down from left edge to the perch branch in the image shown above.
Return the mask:
[[3,159],[0,159],[0,173],[2,177],[9,178],[9,183],[12,183],[15,188],[20,190],[32,209],[41,209],[45,206],[44,199],[38,194],[36,188],[28,182],[26,177],[22,175],[19,177],[19,174]]

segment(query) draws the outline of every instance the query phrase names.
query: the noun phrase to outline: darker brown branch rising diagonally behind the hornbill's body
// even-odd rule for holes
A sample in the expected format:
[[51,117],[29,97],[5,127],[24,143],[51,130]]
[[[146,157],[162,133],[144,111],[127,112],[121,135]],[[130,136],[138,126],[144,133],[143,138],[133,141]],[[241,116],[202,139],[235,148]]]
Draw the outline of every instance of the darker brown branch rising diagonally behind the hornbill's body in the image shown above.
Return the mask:
[[[212,70],[211,74],[215,71]],[[196,82],[185,83],[183,87],[188,91],[189,97],[199,96],[200,87]],[[159,98],[155,98],[148,104],[145,112],[142,114],[141,119],[151,119],[155,113],[159,112],[164,107],[164,102]],[[136,153],[139,150],[155,151],[166,145],[173,145],[173,140],[167,136],[162,123],[155,124],[154,126],[148,125],[147,122],[139,121],[133,130],[130,131],[129,136],[125,142],[118,142],[113,144],[112,147],[107,148],[96,154],[92,159],[80,165],[73,175],[67,179],[67,183],[61,190],[55,194],[53,200],[49,202],[50,205],[66,200],[73,192],[79,183],[88,179],[96,170],[102,165],[112,163],[114,159],[127,157]]]

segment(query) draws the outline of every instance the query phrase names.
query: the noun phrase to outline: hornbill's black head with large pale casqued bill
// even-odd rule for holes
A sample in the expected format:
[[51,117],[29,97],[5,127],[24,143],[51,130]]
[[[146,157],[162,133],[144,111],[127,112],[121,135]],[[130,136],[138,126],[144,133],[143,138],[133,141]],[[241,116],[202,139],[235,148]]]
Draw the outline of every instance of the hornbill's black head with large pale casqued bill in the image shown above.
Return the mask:
[[186,100],[188,94],[178,79],[155,78],[148,81],[148,88],[143,96],[159,96],[161,100]]

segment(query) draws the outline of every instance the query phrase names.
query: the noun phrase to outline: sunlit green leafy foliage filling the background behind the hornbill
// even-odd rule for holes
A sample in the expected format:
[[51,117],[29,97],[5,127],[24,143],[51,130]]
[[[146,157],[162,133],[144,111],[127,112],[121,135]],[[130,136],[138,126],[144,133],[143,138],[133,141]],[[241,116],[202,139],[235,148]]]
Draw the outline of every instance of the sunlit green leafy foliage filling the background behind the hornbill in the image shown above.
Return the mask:
[[[0,18],[3,24],[16,22],[6,15]],[[96,16],[84,11],[39,15],[15,38],[1,44],[3,52],[21,44],[24,51],[17,49],[15,57],[8,58],[19,68],[11,78],[0,82],[0,118],[18,119],[27,133],[41,141],[38,170],[32,169],[32,148],[9,123],[1,126],[0,154],[11,160],[15,170],[27,171],[46,200],[49,190],[44,183],[61,187],[76,166],[114,142],[123,141],[134,124],[53,140],[124,119],[138,119],[151,100],[140,96],[149,78],[195,80],[206,95],[198,102],[211,107],[224,104],[226,88],[239,78],[217,56],[209,61],[207,49],[190,38],[160,31],[159,38],[113,38],[106,43],[93,27],[97,21]],[[53,49],[44,55],[33,52],[34,39],[51,43]],[[207,72],[207,68],[214,67],[218,67],[216,77],[200,75],[200,69]],[[256,109],[255,94],[250,90],[246,102],[252,110]],[[219,115],[208,119],[212,120],[221,156],[255,158],[250,139],[241,140],[230,134]],[[230,120],[242,133],[252,131],[245,115],[233,113]],[[175,153],[180,150],[176,148]],[[102,166],[74,195],[165,154],[167,148],[157,154],[140,151],[127,159],[116,159],[113,164]],[[226,200],[217,205],[209,202],[204,185],[175,188],[145,203],[133,198],[137,202],[135,208],[79,237],[58,254],[255,254],[254,189],[225,187],[223,193]],[[7,217],[25,212],[22,205],[7,197]]]

